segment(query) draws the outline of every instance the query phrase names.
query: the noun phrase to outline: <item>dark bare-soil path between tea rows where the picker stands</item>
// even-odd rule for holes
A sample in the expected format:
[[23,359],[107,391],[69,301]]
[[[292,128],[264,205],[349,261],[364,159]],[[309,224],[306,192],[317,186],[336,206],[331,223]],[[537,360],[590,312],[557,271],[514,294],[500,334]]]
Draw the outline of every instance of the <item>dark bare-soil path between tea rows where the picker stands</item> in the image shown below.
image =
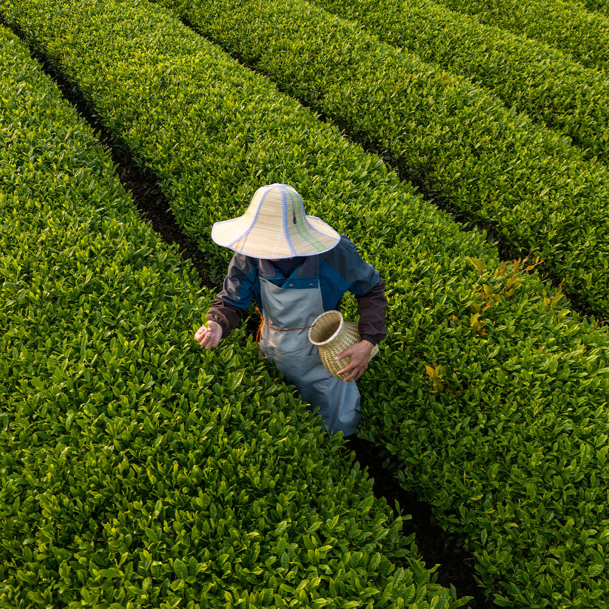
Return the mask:
[[[0,23],[7,24],[0,19]],[[10,27],[27,44],[23,33]],[[169,202],[161,191],[157,176],[147,167],[142,166],[133,158],[128,146],[116,136],[112,135],[97,116],[95,110],[85,100],[79,88],[71,83],[60,69],[40,54],[37,49],[28,45],[30,54],[43,67],[44,72],[57,84],[63,96],[68,100],[79,115],[93,128],[99,140],[111,155],[117,166],[117,174],[124,188],[132,194],[133,201],[144,219],[152,224],[153,230],[160,234],[167,244],[175,242],[181,257],[192,262],[199,273],[202,284],[210,289],[218,288],[211,283],[208,264],[197,244],[186,236],[180,225],[176,222]],[[258,328],[258,319],[250,315],[246,321],[249,334],[255,336]],[[412,515],[412,519],[404,522],[403,533],[415,533],[415,543],[426,565],[440,565],[437,570],[438,583],[446,588],[453,585],[457,594],[471,596],[471,609],[496,609],[498,605],[485,596],[474,580],[475,559],[462,550],[462,540],[446,533],[434,524],[431,505],[418,501],[415,493],[407,493],[400,487],[387,467],[387,460],[391,457],[382,446],[366,442],[361,438],[351,437],[345,446],[345,460],[350,450],[356,454],[356,459],[362,468],[367,467],[370,477],[374,479],[374,492],[377,497],[384,497],[390,506],[395,501],[400,504],[404,514]]]

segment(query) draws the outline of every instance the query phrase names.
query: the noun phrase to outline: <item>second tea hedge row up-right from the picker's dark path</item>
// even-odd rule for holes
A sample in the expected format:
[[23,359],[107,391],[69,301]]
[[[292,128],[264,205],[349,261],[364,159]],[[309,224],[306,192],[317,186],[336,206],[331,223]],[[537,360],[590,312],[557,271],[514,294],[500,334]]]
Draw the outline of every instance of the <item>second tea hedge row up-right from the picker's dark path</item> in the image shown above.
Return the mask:
[[609,169],[566,138],[304,0],[159,1],[609,315]]

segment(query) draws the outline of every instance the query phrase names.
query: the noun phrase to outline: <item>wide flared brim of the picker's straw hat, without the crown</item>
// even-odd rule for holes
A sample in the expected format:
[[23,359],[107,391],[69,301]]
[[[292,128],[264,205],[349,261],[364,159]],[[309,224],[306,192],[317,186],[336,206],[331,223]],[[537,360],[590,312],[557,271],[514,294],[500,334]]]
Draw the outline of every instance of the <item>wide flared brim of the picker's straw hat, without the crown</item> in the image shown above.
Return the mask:
[[233,252],[262,259],[312,256],[328,252],[340,241],[340,234],[316,216],[304,216],[305,224],[297,225],[290,234],[278,232],[276,227],[264,227],[260,222],[239,216],[216,222],[211,238]]

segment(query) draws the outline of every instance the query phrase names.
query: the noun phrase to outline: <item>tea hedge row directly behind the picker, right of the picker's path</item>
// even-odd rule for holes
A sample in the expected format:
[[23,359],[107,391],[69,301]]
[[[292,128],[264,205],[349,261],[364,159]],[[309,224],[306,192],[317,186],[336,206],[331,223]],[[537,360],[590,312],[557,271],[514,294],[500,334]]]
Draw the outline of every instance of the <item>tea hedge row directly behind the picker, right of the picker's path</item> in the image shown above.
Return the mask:
[[350,234],[390,300],[389,337],[362,381],[362,433],[403,457],[404,484],[466,534],[497,602],[598,607],[608,591],[607,331],[163,10],[3,6],[161,175],[203,250],[226,260],[211,222],[273,181]]

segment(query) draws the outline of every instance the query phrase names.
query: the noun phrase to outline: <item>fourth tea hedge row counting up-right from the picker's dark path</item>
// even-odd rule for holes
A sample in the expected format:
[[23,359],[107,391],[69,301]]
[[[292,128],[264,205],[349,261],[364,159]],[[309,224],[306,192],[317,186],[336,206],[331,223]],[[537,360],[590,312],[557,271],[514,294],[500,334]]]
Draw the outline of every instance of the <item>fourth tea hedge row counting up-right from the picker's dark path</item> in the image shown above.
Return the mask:
[[609,19],[561,0],[437,0],[480,23],[570,53],[587,68],[604,71],[609,57]]

